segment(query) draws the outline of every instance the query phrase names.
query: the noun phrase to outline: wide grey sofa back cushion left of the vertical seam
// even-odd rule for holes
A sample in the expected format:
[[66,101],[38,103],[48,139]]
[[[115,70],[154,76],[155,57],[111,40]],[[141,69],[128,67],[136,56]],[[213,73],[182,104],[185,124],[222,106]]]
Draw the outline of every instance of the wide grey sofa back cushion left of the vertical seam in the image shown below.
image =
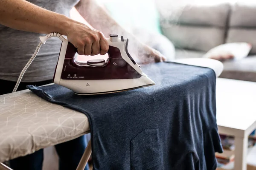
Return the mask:
[[206,52],[224,43],[229,11],[227,3],[186,4],[160,15],[162,32],[177,48]]

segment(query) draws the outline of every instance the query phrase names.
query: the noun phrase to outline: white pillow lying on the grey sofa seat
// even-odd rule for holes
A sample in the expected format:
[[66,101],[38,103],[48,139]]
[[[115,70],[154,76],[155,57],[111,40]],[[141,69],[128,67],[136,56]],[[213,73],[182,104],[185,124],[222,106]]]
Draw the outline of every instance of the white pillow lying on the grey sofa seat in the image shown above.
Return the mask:
[[225,43],[210,49],[203,57],[212,59],[242,59],[248,56],[251,49],[252,45],[247,42]]

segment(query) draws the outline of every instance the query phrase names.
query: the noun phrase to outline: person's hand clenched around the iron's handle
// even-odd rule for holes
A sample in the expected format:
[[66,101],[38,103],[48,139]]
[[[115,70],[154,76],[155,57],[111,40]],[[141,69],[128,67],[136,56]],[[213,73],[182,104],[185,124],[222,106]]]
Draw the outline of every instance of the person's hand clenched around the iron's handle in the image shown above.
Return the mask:
[[108,52],[108,41],[101,31],[76,21],[67,30],[67,39],[77,48],[79,55],[104,55]]

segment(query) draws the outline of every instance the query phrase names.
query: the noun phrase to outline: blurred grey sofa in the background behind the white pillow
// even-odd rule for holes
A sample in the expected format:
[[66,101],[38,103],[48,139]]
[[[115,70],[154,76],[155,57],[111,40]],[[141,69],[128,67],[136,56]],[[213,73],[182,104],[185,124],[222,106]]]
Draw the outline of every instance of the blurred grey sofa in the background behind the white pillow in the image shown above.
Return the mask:
[[228,42],[249,42],[249,56],[224,61],[220,77],[256,82],[256,4],[183,4],[166,10],[160,10],[162,34],[175,45],[176,59],[202,57]]

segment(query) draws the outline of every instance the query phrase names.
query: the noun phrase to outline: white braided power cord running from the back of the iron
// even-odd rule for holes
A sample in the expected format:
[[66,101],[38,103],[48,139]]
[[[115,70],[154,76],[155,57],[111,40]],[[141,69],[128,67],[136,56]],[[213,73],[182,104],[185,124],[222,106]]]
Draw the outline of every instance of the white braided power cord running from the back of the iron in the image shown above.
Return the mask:
[[37,46],[37,48],[36,48],[34,54],[33,54],[32,57],[29,59],[29,62],[27,62],[27,64],[25,65],[25,67],[24,67],[23,70],[21,71],[20,76],[19,76],[19,78],[18,78],[18,80],[17,80],[17,83],[16,83],[15,88],[13,89],[12,93],[17,91],[17,88],[18,88],[18,86],[20,85],[20,81],[21,81],[23,75],[25,74],[25,71],[29,68],[29,65],[30,65],[30,64],[32,63],[32,61],[35,59],[35,57],[36,57],[36,55],[38,54],[38,51],[39,51],[39,49],[41,48],[41,46],[42,46],[43,44],[45,44],[45,42],[46,42],[49,38],[52,38],[52,37],[58,37],[61,41],[66,40],[66,39],[63,37],[63,35],[61,35],[61,34],[59,34],[59,33],[57,33],[57,32],[52,32],[52,33],[50,33],[50,34],[47,34],[47,35],[44,36],[44,37],[40,37],[41,42],[38,44],[38,46]]

